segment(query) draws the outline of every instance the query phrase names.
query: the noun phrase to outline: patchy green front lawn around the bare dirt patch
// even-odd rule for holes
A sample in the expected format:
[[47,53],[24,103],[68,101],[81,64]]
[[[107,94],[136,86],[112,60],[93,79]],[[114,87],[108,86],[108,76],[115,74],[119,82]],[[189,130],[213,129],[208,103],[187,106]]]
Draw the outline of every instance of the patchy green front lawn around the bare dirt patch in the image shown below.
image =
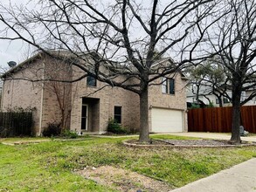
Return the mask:
[[[177,139],[158,136],[163,137]],[[127,139],[87,137],[84,141],[0,144],[0,191],[113,191],[73,173],[101,165],[129,169],[181,187],[256,157],[256,147],[132,148],[121,145]]]

